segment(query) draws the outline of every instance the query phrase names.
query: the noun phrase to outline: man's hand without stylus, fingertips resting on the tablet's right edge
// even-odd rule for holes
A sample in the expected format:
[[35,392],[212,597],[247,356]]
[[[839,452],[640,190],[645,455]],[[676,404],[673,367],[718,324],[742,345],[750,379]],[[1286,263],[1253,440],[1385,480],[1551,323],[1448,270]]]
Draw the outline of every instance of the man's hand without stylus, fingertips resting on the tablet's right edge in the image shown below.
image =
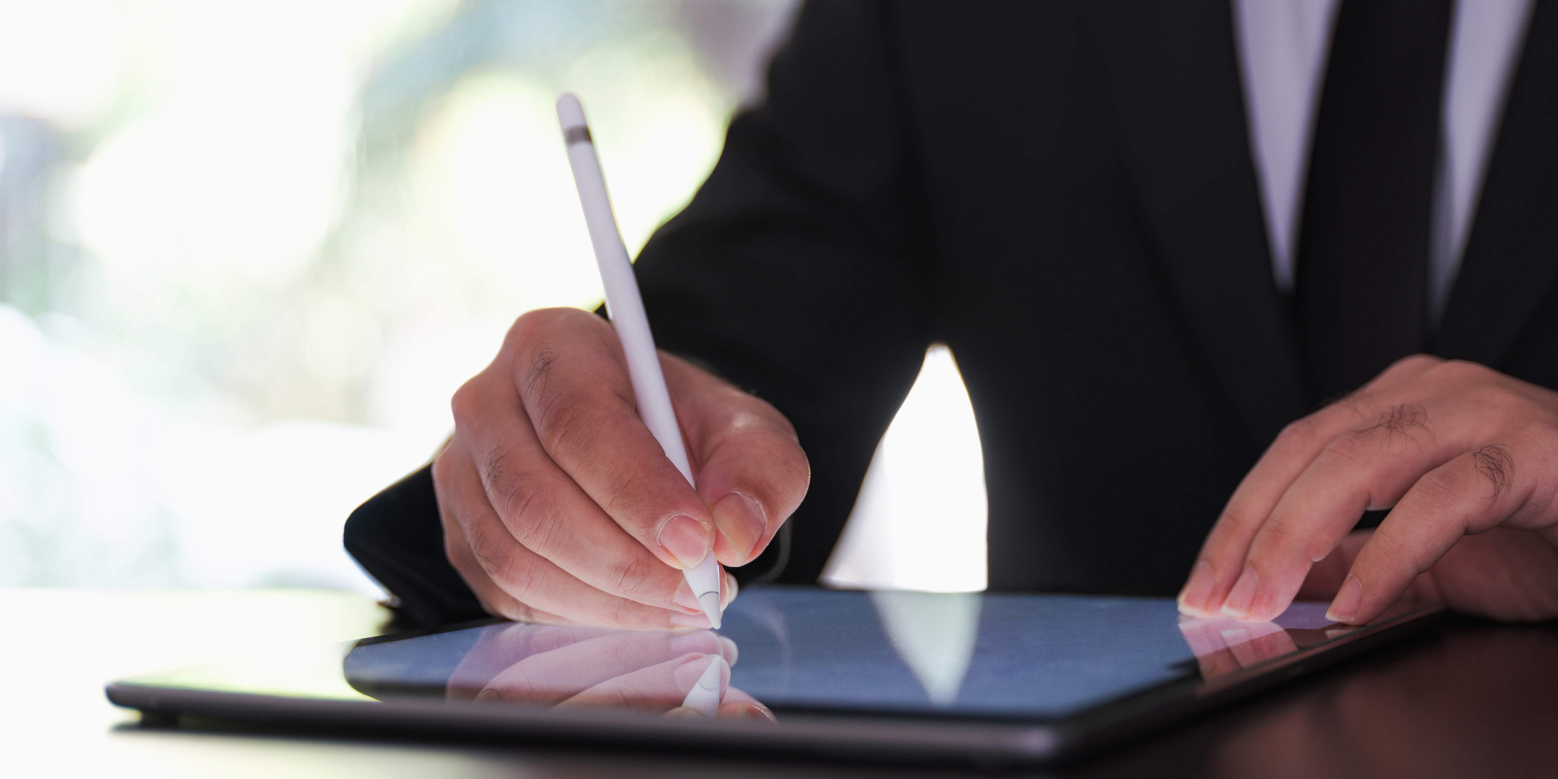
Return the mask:
[[[1349,534],[1385,508],[1379,530]],[[1179,609],[1270,620],[1296,595],[1334,595],[1329,619],[1363,623],[1408,587],[1485,617],[1558,615],[1558,393],[1475,363],[1398,361],[1282,430]]]

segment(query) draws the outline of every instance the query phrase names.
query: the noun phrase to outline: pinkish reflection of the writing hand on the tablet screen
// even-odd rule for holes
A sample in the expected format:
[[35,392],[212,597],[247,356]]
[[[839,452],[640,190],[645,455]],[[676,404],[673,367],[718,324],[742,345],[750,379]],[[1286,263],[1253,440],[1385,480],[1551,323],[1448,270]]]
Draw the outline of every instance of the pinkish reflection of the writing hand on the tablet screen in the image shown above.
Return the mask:
[[516,623],[488,633],[466,653],[449,676],[446,696],[773,721],[767,706],[729,686],[735,659],[735,642],[707,629]]

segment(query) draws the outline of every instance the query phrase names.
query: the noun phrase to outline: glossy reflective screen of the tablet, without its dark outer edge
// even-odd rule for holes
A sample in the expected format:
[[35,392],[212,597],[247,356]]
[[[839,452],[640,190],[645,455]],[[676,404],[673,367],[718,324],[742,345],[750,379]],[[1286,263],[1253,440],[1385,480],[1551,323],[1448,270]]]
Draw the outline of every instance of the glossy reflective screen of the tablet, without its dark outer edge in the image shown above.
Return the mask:
[[1042,721],[1259,668],[1362,629],[1332,623],[1324,611],[1296,603],[1274,622],[1245,623],[1183,617],[1168,598],[754,587],[731,605],[718,633],[502,622],[132,684],[654,715]]

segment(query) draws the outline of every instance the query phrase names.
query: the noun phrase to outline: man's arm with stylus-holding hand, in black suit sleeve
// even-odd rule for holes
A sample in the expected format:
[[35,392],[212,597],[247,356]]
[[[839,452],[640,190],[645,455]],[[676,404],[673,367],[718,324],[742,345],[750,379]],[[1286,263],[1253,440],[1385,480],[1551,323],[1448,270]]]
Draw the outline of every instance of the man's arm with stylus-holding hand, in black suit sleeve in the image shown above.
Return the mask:
[[[665,358],[696,494],[678,488],[668,461],[643,467],[657,450],[640,446],[631,407],[601,407],[614,393],[595,390],[625,382],[611,330],[533,312],[461,388],[439,463],[393,488],[424,499],[386,492],[347,523],[347,548],[421,622],[458,619],[449,606],[472,601],[538,622],[675,619],[678,558],[656,542],[662,520],[693,517],[726,566],[757,558],[807,489],[796,439],[816,478],[787,578],[815,580],[930,340],[887,61],[876,6],[809,6],[774,62],[770,101],[732,122],[714,174],[640,256],[659,344],[731,382]],[[542,363],[561,394],[534,382]],[[580,456],[586,449],[595,456]],[[608,550],[614,533],[633,544]]]

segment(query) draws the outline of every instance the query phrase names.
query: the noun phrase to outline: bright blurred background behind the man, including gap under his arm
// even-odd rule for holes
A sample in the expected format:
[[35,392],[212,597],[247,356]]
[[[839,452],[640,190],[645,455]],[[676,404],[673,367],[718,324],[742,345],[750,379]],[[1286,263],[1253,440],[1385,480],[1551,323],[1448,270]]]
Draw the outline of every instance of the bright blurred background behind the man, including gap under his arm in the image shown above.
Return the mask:
[[[341,550],[520,313],[601,299],[553,100],[636,252],[790,0],[0,0],[0,586],[379,594]],[[829,576],[985,586],[925,369]]]

